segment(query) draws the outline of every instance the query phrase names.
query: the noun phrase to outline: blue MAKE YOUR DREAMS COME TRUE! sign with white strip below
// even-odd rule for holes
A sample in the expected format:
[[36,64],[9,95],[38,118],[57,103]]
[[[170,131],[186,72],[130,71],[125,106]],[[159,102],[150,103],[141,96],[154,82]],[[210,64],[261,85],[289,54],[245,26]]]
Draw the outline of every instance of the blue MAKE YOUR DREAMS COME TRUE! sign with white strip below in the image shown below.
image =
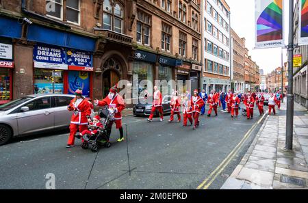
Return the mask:
[[67,70],[65,49],[37,44],[34,46],[34,67]]

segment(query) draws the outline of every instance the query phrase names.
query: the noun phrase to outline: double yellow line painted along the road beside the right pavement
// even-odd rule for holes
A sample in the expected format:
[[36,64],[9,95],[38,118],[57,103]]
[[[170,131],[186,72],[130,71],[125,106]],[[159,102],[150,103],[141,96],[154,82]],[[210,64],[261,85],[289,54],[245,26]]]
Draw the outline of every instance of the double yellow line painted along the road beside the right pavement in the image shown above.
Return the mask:
[[[267,113],[264,114],[264,116],[266,116]],[[209,186],[214,182],[214,180],[216,180],[217,176],[227,167],[227,165],[229,165],[230,161],[235,157],[235,155],[238,153],[238,151],[240,150],[240,148],[242,147],[242,145],[244,144],[244,142],[246,141],[246,139],[248,139],[248,137],[251,136],[251,133],[255,130],[255,128],[257,127],[258,124],[260,124],[261,120],[264,119],[264,116],[262,116],[258,122],[256,122],[250,129],[249,131],[244,135],[244,137],[242,138],[242,140],[240,141],[240,143],[235,146],[235,148],[233,148],[233,150],[230,152],[230,154],[224,159],[224,161],[222,161],[222,163],[220,163],[220,165],[218,165],[218,167],[216,167],[216,169],[211,172],[211,174],[209,174],[209,176],[203,180],[203,182],[201,183],[201,185],[199,185],[197,187],[197,189],[208,189]]]

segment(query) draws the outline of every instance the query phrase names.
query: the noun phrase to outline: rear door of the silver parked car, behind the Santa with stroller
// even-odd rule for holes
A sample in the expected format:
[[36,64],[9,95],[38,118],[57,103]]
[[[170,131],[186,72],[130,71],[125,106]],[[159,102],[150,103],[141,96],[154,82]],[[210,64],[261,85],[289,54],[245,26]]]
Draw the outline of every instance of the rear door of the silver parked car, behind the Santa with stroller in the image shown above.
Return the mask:
[[67,106],[70,104],[70,100],[73,97],[70,96],[55,96],[55,107],[53,113],[55,117],[55,128],[62,128],[70,125],[70,117],[72,112],[67,110]]

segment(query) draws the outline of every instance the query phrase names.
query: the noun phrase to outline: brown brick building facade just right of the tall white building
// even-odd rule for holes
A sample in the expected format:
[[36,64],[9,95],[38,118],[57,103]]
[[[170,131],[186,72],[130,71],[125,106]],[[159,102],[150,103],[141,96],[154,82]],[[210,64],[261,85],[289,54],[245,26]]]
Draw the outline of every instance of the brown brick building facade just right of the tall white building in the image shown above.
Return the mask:
[[231,29],[231,90],[244,92],[244,49],[245,38],[240,38]]

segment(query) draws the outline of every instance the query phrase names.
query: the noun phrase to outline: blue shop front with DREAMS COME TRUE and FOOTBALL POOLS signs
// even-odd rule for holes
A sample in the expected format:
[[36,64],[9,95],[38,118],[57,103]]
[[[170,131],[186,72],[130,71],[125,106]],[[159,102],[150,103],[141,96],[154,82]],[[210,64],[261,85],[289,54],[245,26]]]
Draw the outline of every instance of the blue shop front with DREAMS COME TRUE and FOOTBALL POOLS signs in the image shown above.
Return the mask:
[[75,94],[91,97],[92,55],[49,44],[34,46],[34,93]]

